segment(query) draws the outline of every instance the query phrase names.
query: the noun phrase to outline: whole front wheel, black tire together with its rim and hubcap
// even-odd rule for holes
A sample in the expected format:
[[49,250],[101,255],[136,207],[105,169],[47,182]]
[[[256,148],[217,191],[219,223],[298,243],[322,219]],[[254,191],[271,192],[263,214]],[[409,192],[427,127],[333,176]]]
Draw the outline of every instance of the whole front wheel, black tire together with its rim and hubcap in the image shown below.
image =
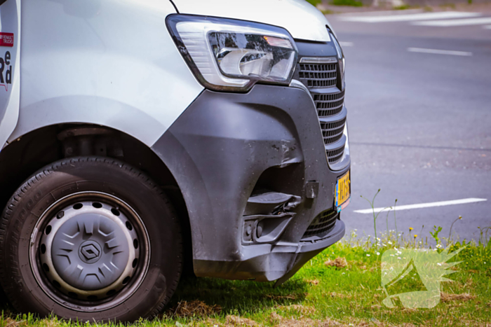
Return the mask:
[[118,160],[54,162],[15,191],[1,216],[0,283],[22,313],[152,319],[181,270],[173,206],[149,177]]

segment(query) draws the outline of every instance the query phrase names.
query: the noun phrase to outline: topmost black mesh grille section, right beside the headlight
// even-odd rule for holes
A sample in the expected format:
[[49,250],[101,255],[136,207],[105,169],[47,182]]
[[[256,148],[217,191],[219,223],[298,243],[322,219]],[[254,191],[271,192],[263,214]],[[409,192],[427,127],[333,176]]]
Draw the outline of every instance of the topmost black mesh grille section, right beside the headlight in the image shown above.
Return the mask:
[[300,64],[299,78],[307,88],[329,88],[336,85],[337,64]]

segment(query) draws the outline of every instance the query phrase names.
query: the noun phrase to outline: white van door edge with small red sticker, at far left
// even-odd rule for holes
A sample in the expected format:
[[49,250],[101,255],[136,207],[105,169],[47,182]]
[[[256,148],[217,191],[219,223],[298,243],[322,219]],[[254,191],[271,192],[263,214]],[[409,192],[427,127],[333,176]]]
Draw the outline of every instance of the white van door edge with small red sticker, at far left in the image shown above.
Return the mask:
[[19,59],[20,0],[0,0],[0,151],[19,116]]

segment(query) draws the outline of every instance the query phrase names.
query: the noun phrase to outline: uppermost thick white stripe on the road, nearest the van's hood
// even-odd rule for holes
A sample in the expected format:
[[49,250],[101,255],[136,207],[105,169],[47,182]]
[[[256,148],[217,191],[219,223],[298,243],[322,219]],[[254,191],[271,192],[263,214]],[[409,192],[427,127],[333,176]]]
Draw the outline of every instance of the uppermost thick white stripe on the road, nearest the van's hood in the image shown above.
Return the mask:
[[413,13],[409,15],[387,16],[353,16],[340,17],[349,22],[407,22],[410,20],[444,20],[449,18],[469,18],[480,16],[480,13],[464,13],[460,11],[440,11],[438,13]]

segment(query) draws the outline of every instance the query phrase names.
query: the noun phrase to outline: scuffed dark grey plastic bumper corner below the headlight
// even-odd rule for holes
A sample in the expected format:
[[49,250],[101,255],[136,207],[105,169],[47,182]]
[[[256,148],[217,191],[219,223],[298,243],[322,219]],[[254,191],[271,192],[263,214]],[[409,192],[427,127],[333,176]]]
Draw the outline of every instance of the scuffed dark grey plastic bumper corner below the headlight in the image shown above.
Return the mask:
[[332,209],[337,177],[349,169],[328,167],[316,108],[302,89],[205,90],[152,148],[187,204],[197,276],[285,280],[344,235],[337,220],[302,240]]

